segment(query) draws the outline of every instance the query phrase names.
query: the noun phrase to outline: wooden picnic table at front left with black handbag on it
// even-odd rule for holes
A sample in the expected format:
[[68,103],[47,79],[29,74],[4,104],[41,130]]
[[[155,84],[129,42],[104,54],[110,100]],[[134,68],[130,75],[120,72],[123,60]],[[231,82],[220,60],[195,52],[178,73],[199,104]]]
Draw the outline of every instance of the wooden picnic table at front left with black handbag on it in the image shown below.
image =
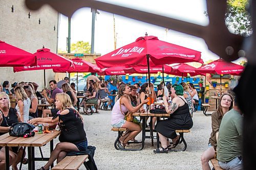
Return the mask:
[[[53,151],[53,139],[60,134],[60,131],[53,130],[53,133],[35,133],[33,137],[14,137],[6,133],[0,136],[0,146],[5,147],[6,169],[9,169],[9,147],[28,147],[28,169],[35,169],[35,161],[48,161],[49,158],[35,157],[34,147],[42,147],[50,141],[50,153]],[[51,165],[53,167],[53,164]]]

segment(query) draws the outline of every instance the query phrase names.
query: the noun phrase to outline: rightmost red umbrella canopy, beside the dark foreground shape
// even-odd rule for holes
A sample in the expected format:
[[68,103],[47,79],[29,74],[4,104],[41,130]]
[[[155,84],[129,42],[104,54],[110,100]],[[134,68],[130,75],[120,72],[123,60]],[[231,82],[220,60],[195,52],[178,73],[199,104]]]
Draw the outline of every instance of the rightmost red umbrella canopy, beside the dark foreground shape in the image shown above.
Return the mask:
[[218,59],[196,69],[200,73],[218,75],[241,75],[244,66]]

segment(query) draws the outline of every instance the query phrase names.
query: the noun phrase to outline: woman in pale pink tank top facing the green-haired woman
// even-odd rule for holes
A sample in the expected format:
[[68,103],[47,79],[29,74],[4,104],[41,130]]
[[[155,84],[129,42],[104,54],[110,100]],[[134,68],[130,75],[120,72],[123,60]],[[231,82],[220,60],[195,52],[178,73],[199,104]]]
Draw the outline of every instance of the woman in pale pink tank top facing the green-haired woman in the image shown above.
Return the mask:
[[123,114],[127,111],[134,113],[138,111],[143,104],[148,102],[148,100],[144,100],[138,106],[133,107],[129,98],[131,93],[131,88],[127,84],[122,84],[118,90],[118,100],[116,101],[111,113],[111,125],[114,128],[127,128],[129,130],[129,132],[120,137],[119,141],[117,142],[120,149],[124,149],[125,144],[129,140],[134,139],[135,136],[137,136],[141,131],[140,125],[126,121]]

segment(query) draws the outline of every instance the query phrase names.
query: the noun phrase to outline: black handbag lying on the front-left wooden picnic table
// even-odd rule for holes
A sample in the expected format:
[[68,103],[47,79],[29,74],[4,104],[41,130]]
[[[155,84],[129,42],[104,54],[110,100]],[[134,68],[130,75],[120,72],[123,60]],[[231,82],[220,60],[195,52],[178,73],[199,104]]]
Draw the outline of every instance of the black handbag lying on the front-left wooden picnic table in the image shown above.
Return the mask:
[[15,137],[24,137],[24,135],[27,135],[27,137],[31,137],[35,135],[35,132],[33,131],[34,128],[34,125],[17,122],[12,124],[12,128],[9,130],[9,135]]

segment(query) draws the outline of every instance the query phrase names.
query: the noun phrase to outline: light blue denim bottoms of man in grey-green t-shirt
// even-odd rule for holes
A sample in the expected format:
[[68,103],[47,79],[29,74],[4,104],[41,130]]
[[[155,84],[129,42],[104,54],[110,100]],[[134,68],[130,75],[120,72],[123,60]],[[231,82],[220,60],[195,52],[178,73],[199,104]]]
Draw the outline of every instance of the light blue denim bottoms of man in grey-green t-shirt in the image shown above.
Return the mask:
[[229,162],[220,162],[219,161],[219,165],[223,169],[230,169],[230,170],[231,169],[232,170],[243,169],[242,157],[241,156],[237,156],[237,157],[233,158]]

